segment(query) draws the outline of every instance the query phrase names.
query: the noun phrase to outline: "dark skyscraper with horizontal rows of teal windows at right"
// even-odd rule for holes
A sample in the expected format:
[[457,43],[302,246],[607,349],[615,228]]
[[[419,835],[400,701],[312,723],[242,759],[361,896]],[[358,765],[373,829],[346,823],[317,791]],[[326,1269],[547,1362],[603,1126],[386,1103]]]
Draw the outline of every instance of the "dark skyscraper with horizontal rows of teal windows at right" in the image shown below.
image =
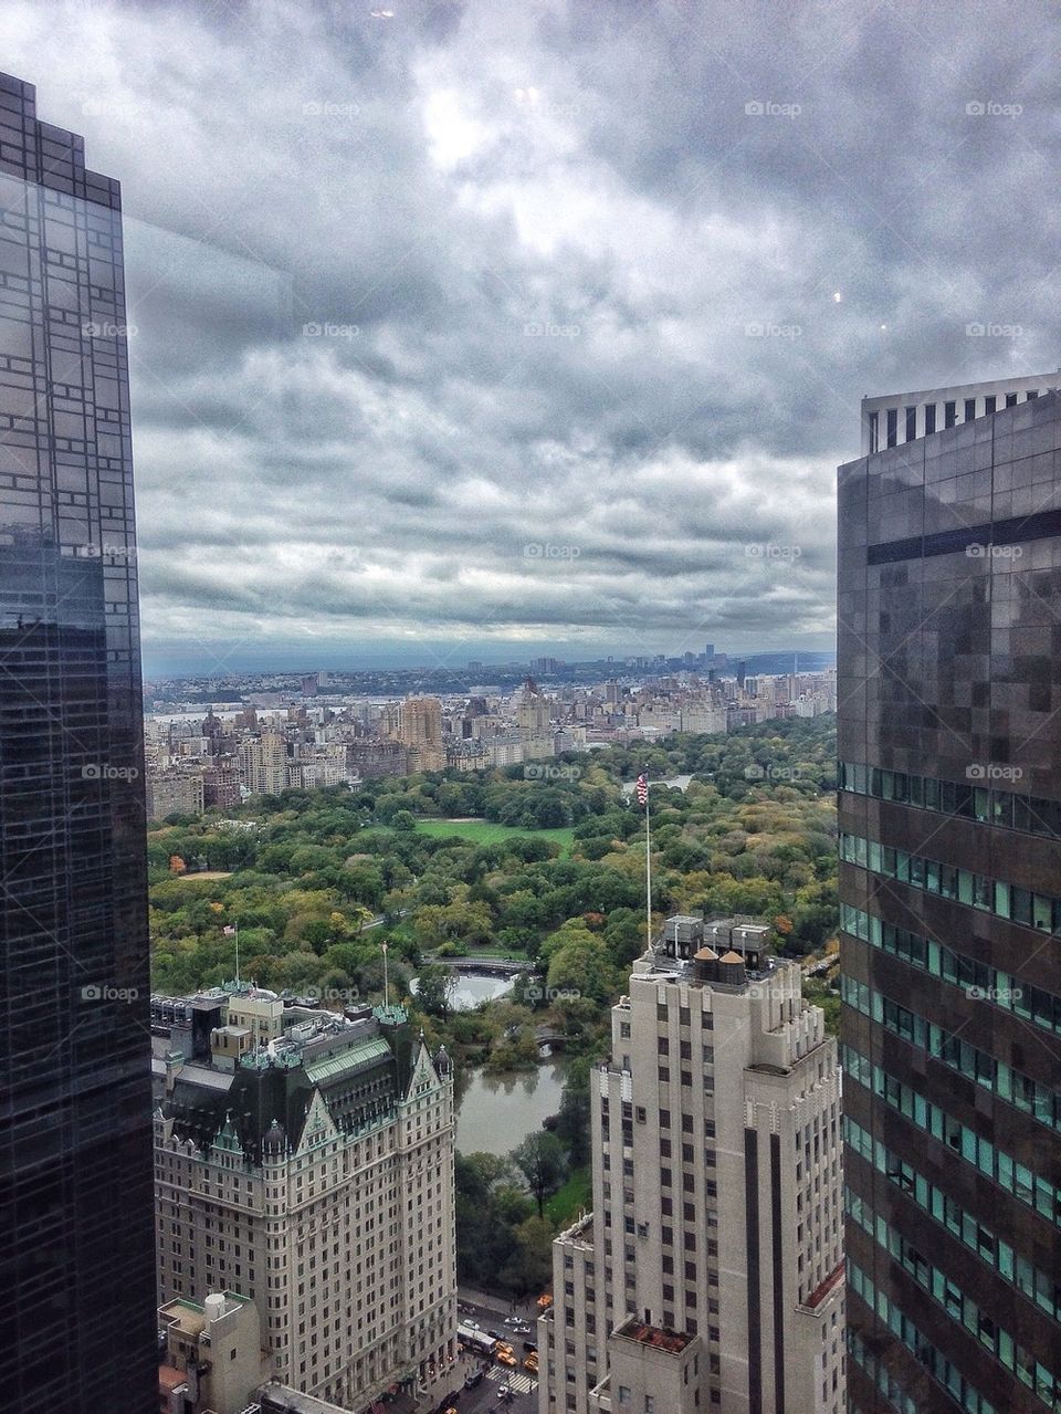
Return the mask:
[[860,1414],[1061,1408],[1051,382],[873,399],[869,455],[839,471],[848,1389]]

